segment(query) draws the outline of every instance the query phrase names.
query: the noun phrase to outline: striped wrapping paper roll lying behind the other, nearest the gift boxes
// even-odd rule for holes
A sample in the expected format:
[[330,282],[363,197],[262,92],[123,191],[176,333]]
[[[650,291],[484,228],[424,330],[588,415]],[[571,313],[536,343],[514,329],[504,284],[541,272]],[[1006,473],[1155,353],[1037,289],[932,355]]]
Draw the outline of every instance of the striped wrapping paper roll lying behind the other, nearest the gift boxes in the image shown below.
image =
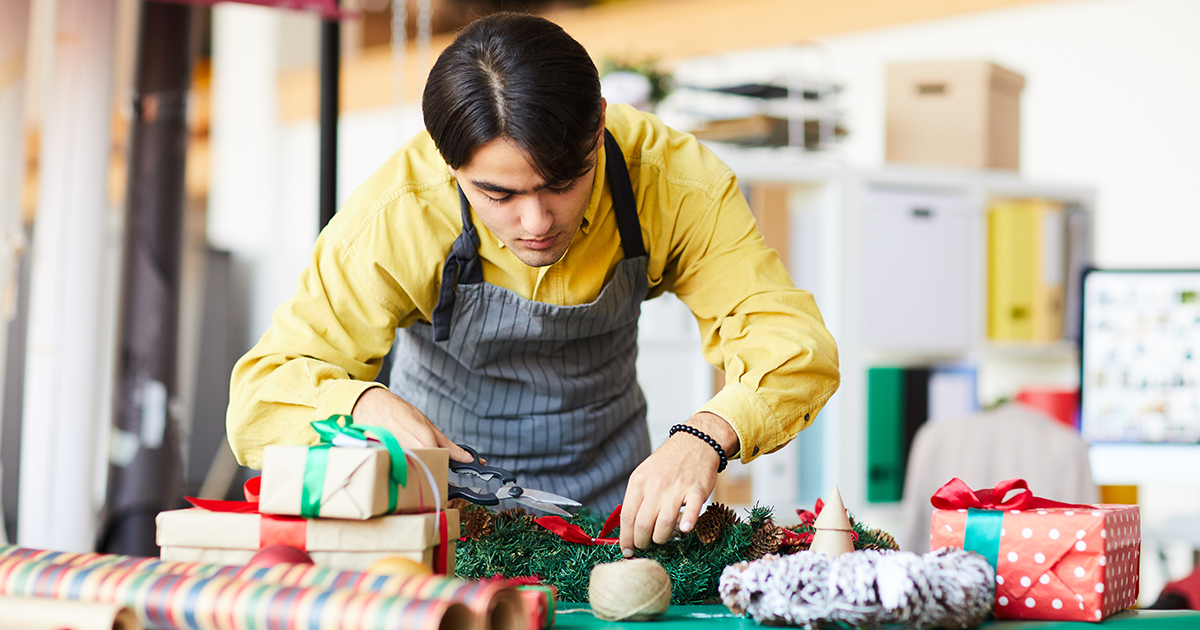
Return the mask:
[[28,563],[197,577],[220,576],[287,587],[352,589],[409,599],[456,601],[475,613],[484,630],[523,630],[529,624],[526,607],[520,596],[503,581],[468,582],[439,575],[391,576],[361,571],[335,571],[311,564],[227,566],[164,562],[137,556],[72,553],[0,546],[0,580],[11,571],[10,564]]

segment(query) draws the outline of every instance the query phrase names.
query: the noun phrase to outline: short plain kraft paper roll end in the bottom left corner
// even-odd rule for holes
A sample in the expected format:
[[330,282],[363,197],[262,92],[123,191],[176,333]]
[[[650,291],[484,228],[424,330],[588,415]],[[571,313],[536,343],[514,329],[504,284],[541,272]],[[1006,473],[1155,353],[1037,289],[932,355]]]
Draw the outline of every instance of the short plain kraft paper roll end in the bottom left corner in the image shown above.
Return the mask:
[[0,596],[0,630],[142,630],[120,604]]

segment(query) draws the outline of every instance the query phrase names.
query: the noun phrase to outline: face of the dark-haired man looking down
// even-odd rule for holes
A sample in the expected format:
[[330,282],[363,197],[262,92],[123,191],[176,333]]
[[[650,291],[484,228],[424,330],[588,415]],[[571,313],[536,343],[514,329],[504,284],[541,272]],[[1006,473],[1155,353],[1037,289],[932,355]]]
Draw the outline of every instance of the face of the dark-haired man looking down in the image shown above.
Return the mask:
[[520,146],[500,137],[455,170],[472,208],[512,254],[529,266],[557,263],[583,221],[595,181],[595,158],[571,181],[545,181]]

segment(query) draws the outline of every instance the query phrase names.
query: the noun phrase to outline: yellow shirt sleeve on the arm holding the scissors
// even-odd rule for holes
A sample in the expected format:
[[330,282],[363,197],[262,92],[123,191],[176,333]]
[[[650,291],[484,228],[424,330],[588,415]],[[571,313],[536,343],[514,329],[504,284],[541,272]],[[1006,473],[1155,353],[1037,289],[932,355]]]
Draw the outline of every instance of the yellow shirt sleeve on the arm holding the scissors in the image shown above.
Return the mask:
[[352,198],[318,236],[270,329],[234,365],[226,428],[242,464],[260,467],[266,444],[317,443],[313,420],[348,414],[364,391],[383,386],[374,378],[396,328],[428,320],[444,240],[434,233],[449,228],[426,220],[391,229],[398,212],[424,210]]

